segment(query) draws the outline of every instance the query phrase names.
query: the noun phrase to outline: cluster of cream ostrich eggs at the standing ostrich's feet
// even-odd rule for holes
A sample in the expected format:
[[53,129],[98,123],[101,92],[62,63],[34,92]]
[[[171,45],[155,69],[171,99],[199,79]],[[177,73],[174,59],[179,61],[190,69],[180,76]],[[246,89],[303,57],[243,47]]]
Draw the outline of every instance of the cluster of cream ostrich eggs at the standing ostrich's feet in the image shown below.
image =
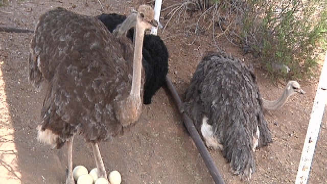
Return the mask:
[[111,171],[109,182],[105,178],[98,178],[98,169],[93,168],[90,172],[84,166],[76,166],[73,170],[73,177],[77,184],[120,184],[122,176],[118,171]]

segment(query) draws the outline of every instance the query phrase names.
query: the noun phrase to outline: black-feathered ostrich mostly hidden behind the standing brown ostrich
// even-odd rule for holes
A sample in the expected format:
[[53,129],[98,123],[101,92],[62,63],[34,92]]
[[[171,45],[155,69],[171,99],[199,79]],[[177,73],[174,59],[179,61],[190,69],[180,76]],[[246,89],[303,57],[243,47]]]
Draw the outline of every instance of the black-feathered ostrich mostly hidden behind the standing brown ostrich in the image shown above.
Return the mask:
[[[116,13],[102,14],[97,16],[99,20],[112,33],[126,19],[125,15]],[[119,35],[126,35],[133,40],[135,24],[127,25],[120,29]],[[122,27],[121,27],[122,28]],[[166,75],[168,73],[169,53],[167,47],[158,35],[146,34],[143,40],[143,68],[145,70],[145,84],[143,103],[151,104],[152,96],[156,91],[166,84]]]

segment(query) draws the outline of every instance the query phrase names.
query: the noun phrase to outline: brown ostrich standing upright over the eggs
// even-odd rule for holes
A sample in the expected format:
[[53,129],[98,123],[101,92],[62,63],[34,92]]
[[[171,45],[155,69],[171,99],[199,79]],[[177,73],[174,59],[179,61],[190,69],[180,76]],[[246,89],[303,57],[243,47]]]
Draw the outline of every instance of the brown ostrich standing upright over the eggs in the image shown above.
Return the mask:
[[29,59],[30,81],[36,87],[45,81],[46,87],[37,138],[57,149],[67,142],[66,184],[74,183],[76,133],[91,145],[99,177],[107,178],[98,142],[123,133],[141,114],[142,43],[151,26],[157,26],[154,10],[139,6],[134,50],[127,37],[116,38],[96,17],[63,8],[40,17]]

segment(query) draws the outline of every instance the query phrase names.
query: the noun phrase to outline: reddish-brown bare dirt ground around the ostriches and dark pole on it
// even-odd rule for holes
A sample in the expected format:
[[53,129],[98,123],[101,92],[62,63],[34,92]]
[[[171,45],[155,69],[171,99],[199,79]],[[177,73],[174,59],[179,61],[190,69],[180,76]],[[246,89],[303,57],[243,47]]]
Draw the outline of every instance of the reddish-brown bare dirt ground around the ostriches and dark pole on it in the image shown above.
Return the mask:
[[[104,12],[129,14],[144,1],[102,0]],[[164,1],[169,7],[174,1]],[[9,1],[0,7],[0,25],[34,29],[38,17],[54,7],[64,7],[85,14],[102,13],[98,1]],[[168,12],[162,12],[165,17]],[[201,45],[192,32],[185,34],[184,22],[171,22],[159,35],[167,44],[169,77],[181,95],[188,86],[197,63],[205,51],[214,51],[212,34],[201,34]],[[165,26],[167,19],[162,19]],[[36,140],[36,126],[44,94],[37,92],[27,80],[30,33],[0,32],[0,183],[64,183],[67,148],[51,150]],[[275,99],[287,81],[271,83],[256,67],[251,55],[242,55],[239,48],[226,40],[218,42],[227,53],[252,63],[262,96]],[[317,71],[320,74],[320,71]],[[300,82],[306,95],[294,96],[281,110],[265,116],[274,142],[255,152],[256,172],[250,183],[292,183],[295,181],[303,141],[310,119],[318,78]],[[326,116],[320,129],[309,183],[327,182]],[[96,167],[91,151],[80,136],[74,141],[74,165],[89,170]],[[140,121],[123,136],[101,143],[100,150],[107,172],[118,170],[122,183],[214,183],[193,140],[182,125],[178,111],[167,90],[160,89],[152,104],[145,106]],[[209,151],[226,183],[242,183],[229,172],[229,165],[220,151]]]

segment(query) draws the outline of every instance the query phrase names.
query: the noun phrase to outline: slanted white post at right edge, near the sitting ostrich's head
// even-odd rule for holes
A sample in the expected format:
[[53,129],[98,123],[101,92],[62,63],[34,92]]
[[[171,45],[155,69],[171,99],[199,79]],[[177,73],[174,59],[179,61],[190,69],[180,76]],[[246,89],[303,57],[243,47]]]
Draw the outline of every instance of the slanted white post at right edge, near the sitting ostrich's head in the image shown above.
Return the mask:
[[313,102],[311,117],[307,129],[305,143],[303,144],[300,163],[297,170],[295,184],[308,182],[312,158],[315,152],[317,137],[327,100],[327,53],[322,66],[316,97]]

